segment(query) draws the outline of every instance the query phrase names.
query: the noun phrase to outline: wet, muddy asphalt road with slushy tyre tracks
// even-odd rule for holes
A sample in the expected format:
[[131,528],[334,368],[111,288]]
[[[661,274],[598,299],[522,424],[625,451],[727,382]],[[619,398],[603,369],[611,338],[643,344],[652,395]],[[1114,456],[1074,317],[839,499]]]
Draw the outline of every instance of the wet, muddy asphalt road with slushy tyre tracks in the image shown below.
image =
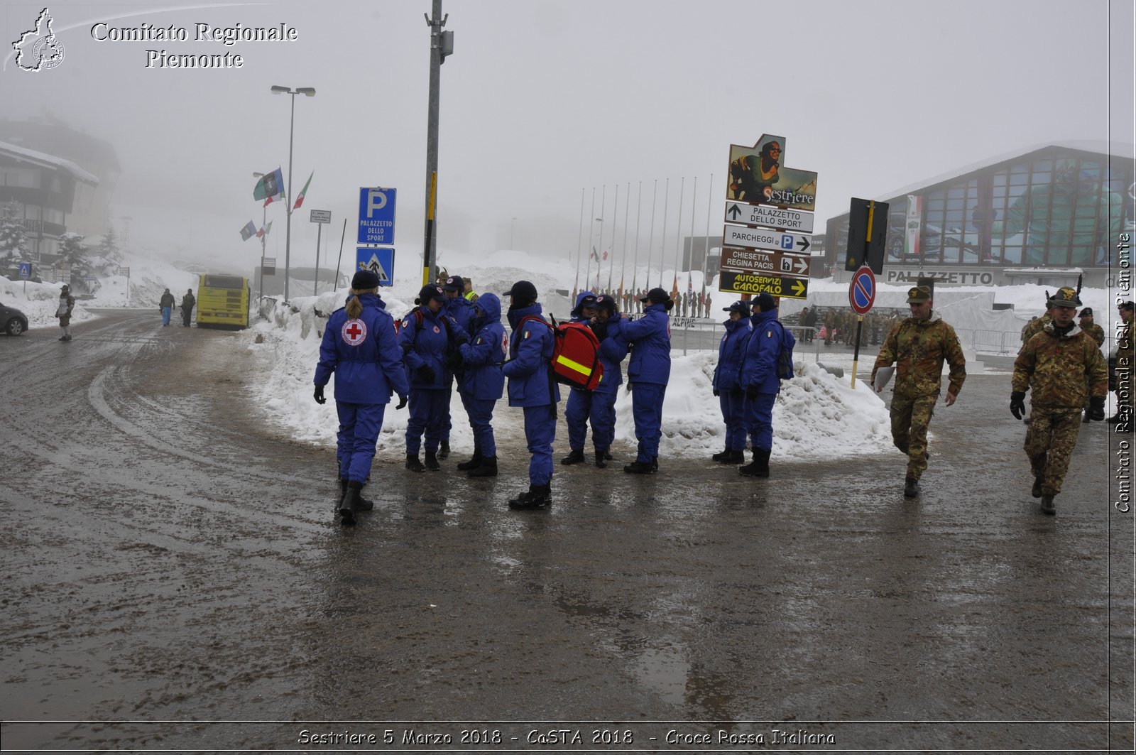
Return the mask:
[[558,466],[551,511],[509,512],[527,455],[499,408],[502,476],[386,454],[375,512],[343,529],[333,451],[248,400],[249,337],[154,320],[0,339],[7,750],[333,748],[304,729],[440,750],[462,731],[513,752],[1133,746],[1119,438],[1083,425],[1042,516],[1009,375],[936,413],[917,501],[899,453],[750,481],[669,458],[627,475],[617,448]]

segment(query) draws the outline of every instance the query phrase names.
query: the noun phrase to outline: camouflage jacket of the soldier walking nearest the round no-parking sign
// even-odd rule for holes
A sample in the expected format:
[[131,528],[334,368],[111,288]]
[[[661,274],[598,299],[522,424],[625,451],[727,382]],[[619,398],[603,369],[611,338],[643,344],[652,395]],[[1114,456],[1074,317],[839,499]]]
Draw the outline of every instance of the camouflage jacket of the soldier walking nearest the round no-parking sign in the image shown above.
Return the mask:
[[908,317],[896,323],[884,339],[871,380],[876,371],[895,363],[895,392],[899,396],[938,396],[943,384],[943,363],[951,365],[949,393],[959,395],[967,379],[967,360],[954,329],[942,320]]

